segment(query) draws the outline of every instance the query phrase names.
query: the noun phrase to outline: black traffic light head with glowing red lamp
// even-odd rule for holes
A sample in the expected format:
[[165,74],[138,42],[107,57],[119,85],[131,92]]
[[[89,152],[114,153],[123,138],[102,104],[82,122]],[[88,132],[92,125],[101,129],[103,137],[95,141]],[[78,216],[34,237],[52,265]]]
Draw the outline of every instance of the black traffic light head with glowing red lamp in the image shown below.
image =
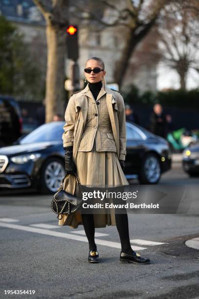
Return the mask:
[[79,57],[78,47],[78,27],[75,25],[69,25],[66,29],[67,38],[67,55],[68,59],[76,61]]

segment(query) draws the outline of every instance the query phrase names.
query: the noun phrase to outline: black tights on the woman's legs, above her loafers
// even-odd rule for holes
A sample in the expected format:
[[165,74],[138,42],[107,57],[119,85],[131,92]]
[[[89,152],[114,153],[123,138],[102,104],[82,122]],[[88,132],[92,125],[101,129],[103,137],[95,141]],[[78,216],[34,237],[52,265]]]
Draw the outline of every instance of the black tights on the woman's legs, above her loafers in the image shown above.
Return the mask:
[[[133,249],[131,248],[130,239],[129,239],[129,228],[128,228],[128,215],[125,214],[115,214],[116,217],[116,226],[119,233],[119,238],[121,242],[121,251],[132,255]],[[89,250],[97,250],[95,243],[95,223],[93,214],[81,214],[83,227],[85,234],[89,243]]]

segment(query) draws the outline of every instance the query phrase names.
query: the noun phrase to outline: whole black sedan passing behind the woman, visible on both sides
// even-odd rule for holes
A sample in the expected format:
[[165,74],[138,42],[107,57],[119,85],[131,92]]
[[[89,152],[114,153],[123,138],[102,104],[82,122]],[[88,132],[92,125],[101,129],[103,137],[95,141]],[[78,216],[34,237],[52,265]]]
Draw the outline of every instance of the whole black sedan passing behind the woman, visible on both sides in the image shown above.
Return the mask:
[[[36,128],[19,140],[18,145],[0,149],[0,188],[37,188],[56,192],[64,171],[62,133],[64,122],[52,122]],[[142,184],[156,184],[161,173],[171,168],[166,140],[144,128],[126,123],[127,179],[138,178]]]

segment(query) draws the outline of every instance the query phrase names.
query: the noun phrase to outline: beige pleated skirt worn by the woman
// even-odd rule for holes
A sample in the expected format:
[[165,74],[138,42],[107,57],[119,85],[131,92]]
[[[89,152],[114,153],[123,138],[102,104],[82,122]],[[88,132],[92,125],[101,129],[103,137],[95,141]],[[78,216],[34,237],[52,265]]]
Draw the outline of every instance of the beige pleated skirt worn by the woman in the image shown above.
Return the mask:
[[[117,153],[114,151],[96,151],[94,142],[91,151],[78,151],[77,174],[81,185],[87,187],[114,187],[129,185],[119,163]],[[77,194],[78,183],[76,182],[75,194]],[[71,228],[78,228],[82,225],[81,210],[71,215],[62,214],[59,225],[69,225]],[[93,214],[95,228],[116,225],[115,211],[110,209],[101,214]]]

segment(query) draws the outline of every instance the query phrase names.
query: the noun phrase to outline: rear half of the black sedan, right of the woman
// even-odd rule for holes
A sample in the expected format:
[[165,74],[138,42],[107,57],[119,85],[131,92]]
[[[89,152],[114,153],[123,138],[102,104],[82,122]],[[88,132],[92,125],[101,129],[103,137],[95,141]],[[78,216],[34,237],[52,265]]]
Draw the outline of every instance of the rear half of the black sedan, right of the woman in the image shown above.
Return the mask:
[[126,122],[127,179],[138,178],[140,184],[157,184],[161,174],[171,169],[169,143],[145,128]]

